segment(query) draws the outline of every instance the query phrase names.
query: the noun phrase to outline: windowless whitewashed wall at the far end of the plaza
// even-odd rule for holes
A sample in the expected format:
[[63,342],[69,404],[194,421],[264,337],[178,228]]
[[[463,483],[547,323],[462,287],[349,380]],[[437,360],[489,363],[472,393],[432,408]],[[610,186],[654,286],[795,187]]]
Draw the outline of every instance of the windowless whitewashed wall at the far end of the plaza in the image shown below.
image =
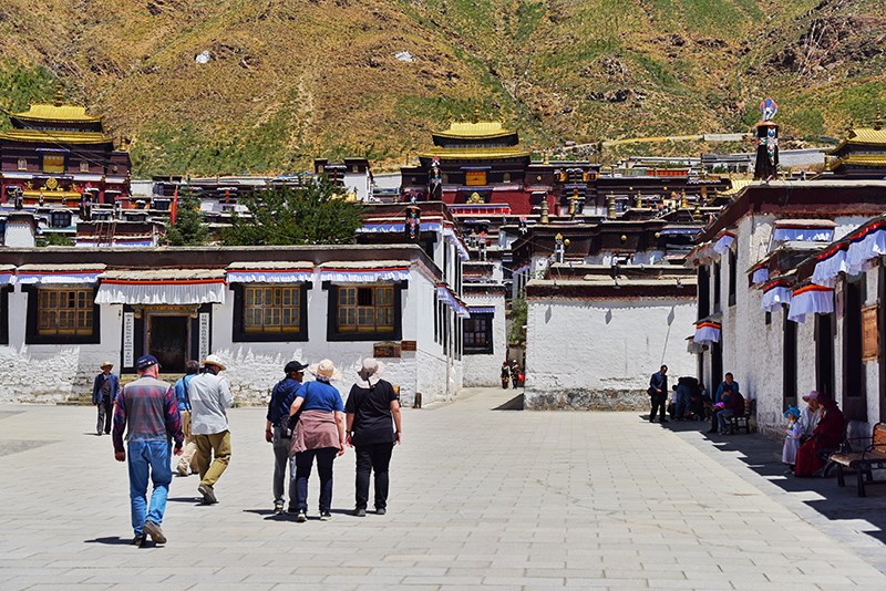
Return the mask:
[[529,300],[527,408],[645,408],[649,379],[696,375],[689,299]]

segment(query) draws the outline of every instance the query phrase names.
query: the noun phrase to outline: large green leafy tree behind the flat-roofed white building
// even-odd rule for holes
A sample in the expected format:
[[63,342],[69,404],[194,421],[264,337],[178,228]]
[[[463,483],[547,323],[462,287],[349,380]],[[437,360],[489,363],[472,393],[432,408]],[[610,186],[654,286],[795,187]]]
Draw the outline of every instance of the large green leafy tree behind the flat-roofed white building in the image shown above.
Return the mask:
[[320,178],[301,187],[272,188],[241,199],[251,219],[235,216],[222,232],[228,246],[341,245],[353,241],[360,206]]

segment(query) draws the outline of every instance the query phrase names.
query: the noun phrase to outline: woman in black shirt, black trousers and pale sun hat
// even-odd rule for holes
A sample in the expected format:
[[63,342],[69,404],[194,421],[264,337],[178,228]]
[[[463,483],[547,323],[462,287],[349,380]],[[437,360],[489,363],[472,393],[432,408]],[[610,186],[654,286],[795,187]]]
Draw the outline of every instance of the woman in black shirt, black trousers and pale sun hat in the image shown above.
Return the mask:
[[357,505],[354,515],[365,517],[369,476],[375,471],[375,514],[388,509],[388,471],[391,452],[400,443],[400,396],[390,382],[380,377],[381,363],[363,360],[360,379],[351,386],[344,404],[346,443],[357,450]]

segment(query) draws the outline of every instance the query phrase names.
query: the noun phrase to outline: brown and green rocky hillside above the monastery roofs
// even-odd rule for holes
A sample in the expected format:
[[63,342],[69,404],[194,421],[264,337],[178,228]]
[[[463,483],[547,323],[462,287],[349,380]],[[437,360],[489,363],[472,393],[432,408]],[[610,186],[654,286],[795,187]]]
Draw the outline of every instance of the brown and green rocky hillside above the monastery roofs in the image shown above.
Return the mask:
[[140,174],[394,166],[475,106],[543,148],[886,105],[882,0],[4,0],[0,55],[0,106],[61,82]]

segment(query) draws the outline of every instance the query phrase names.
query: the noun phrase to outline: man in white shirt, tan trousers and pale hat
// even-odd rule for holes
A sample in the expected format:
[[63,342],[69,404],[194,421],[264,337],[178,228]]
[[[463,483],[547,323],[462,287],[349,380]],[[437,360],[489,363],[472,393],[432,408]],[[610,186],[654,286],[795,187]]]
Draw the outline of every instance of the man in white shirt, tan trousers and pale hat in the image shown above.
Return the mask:
[[[197,491],[207,505],[218,502],[215,484],[230,462],[230,431],[226,409],[234,404],[228,381],[218,375],[225,363],[218,355],[203,360],[204,371],[190,381],[190,429],[197,442],[200,485]],[[210,463],[212,460],[212,463]]]

